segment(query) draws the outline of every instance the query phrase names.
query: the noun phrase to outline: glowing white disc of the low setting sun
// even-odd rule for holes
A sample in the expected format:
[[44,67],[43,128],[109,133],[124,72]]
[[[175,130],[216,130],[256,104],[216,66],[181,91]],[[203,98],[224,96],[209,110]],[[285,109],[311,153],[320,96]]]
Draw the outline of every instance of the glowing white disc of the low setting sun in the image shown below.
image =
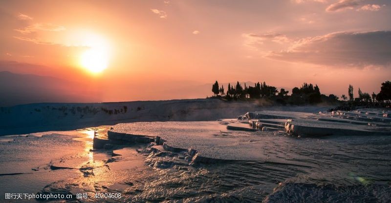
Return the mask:
[[92,73],[102,72],[109,65],[107,50],[91,47],[82,54],[80,63]]

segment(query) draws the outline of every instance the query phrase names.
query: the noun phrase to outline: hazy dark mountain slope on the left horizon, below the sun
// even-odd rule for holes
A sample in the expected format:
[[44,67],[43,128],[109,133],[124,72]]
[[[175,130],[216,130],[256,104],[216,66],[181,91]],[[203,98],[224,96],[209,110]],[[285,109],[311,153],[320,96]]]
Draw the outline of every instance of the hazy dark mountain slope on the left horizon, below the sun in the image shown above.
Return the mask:
[[40,102],[100,101],[96,92],[55,77],[0,72],[0,107]]

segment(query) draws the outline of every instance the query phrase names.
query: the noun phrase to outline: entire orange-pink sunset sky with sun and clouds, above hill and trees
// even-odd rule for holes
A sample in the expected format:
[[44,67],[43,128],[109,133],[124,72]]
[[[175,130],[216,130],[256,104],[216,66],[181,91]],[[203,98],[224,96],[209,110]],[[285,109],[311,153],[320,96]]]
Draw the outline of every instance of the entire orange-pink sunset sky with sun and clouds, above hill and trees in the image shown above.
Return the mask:
[[215,80],[377,93],[390,22],[389,0],[0,0],[0,71],[100,102],[204,98]]

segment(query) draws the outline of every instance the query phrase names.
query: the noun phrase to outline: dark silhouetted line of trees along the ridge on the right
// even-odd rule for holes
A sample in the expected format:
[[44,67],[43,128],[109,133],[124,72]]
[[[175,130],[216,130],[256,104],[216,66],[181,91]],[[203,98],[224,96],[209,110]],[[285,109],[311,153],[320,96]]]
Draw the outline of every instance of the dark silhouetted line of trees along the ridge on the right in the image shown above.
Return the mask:
[[265,98],[269,100],[274,100],[282,104],[293,104],[293,105],[302,105],[302,104],[316,104],[321,102],[326,103],[336,103],[336,102],[355,102],[355,103],[373,103],[373,102],[386,102],[390,103],[391,100],[391,82],[386,81],[381,84],[380,92],[369,94],[368,92],[363,92],[360,88],[358,89],[358,97],[354,97],[353,86],[349,85],[348,87],[348,97],[343,94],[341,96],[342,100],[339,100],[339,97],[335,94],[329,94],[328,96],[322,94],[318,85],[313,85],[311,83],[303,83],[301,87],[295,87],[292,89],[292,94],[288,95],[289,91],[285,89],[277,90],[276,87],[267,85],[263,83],[255,83],[254,86],[247,86],[244,83],[244,87],[239,83],[236,85],[228,84],[228,89],[226,90],[224,86],[219,86],[216,81],[212,85],[212,92],[214,97],[223,98],[227,100],[243,100],[243,99],[260,99]]

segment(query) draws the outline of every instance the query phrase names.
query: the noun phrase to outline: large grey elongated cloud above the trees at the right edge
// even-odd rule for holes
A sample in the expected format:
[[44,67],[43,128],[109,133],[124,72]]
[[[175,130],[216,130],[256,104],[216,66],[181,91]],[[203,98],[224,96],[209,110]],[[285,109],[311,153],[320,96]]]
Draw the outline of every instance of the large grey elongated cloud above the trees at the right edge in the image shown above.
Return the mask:
[[337,32],[297,41],[271,52],[275,60],[326,66],[366,67],[391,63],[391,31]]

